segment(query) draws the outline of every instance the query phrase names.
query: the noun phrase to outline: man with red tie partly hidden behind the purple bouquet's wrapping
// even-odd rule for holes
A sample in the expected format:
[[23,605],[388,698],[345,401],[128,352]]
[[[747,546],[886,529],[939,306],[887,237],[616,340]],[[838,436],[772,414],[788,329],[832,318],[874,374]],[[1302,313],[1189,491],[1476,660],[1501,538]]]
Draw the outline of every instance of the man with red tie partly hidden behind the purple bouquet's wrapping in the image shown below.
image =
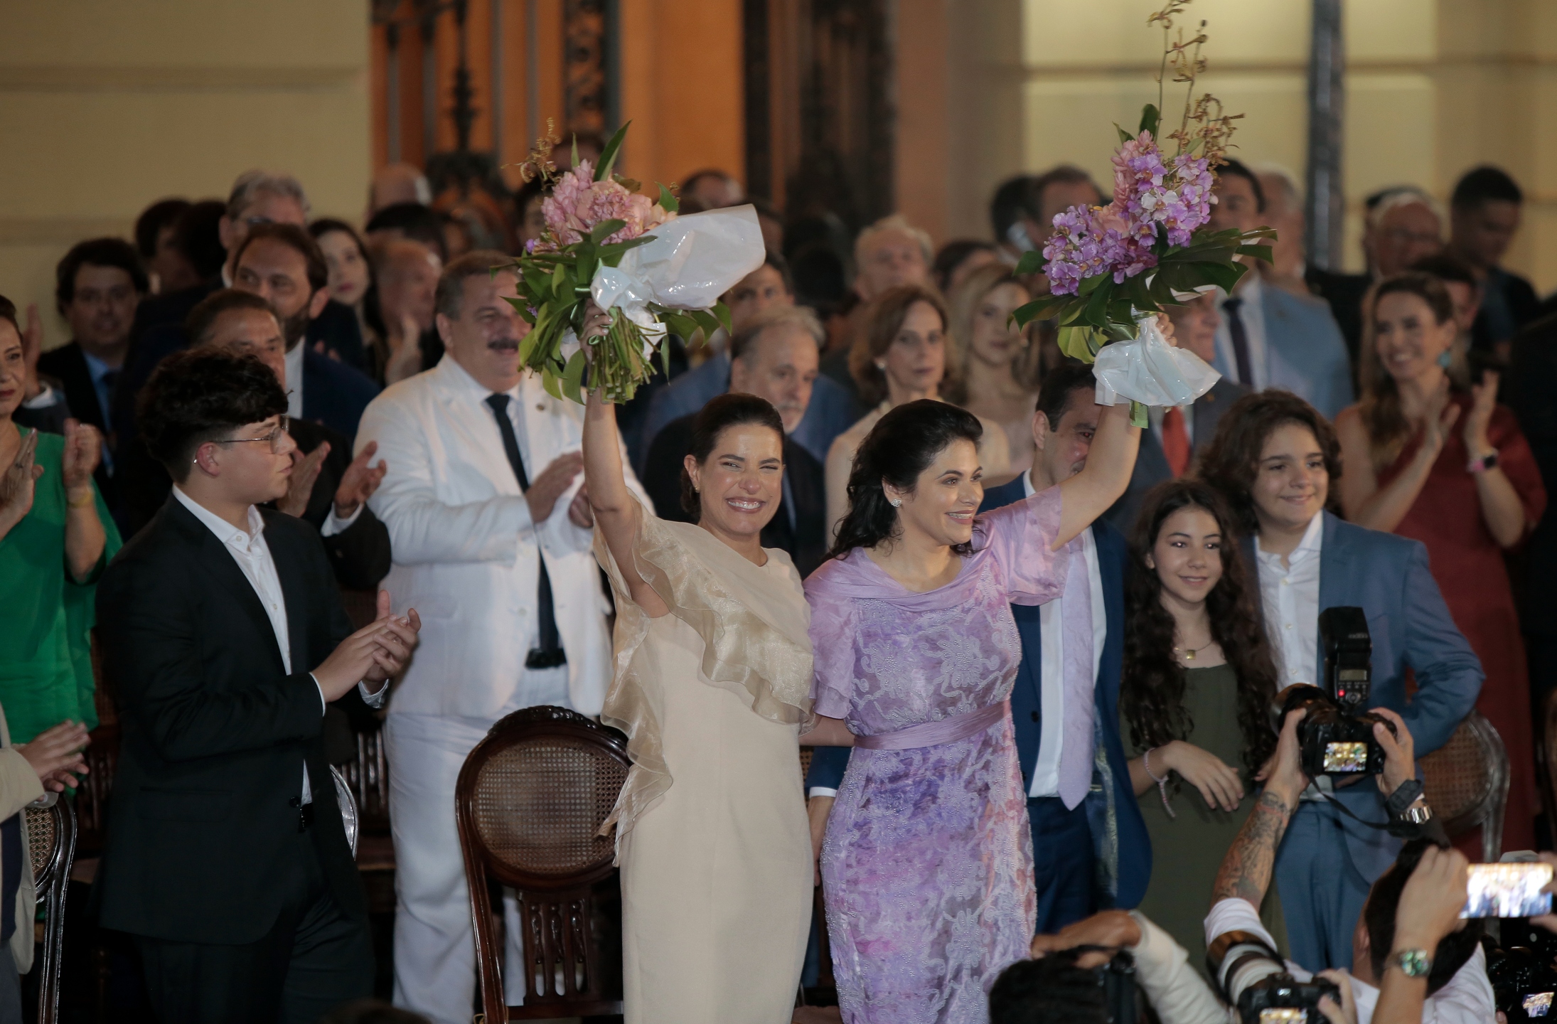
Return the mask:
[[[1216,328],[1222,322],[1216,313],[1219,297],[1219,294],[1208,293],[1196,296],[1183,305],[1168,307],[1174,341],[1180,349],[1188,349],[1207,363],[1216,358]],[[1104,512],[1102,518],[1129,537],[1130,531],[1135,529],[1135,514],[1140,510],[1146,492],[1163,481],[1183,476],[1200,448],[1211,444],[1222,412],[1247,392],[1249,388],[1222,377],[1193,405],[1179,409],[1149,409],[1151,426],[1141,433],[1141,450],[1135,456],[1130,486],[1124,489],[1113,507]]]

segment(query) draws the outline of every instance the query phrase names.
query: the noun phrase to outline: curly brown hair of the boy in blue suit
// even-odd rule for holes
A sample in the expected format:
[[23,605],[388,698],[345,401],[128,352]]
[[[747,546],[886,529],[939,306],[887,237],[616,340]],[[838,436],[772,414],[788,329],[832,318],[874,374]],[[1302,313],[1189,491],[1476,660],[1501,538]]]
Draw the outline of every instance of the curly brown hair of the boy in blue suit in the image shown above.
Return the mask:
[[1319,450],[1325,453],[1325,472],[1330,473],[1330,503],[1336,501],[1336,481],[1341,479],[1341,442],[1336,430],[1319,409],[1308,405],[1291,391],[1256,391],[1233,403],[1216,425],[1216,436],[1200,453],[1196,473],[1227,500],[1238,528],[1244,534],[1260,532],[1255,517],[1252,489],[1260,472],[1260,451],[1271,434],[1285,423],[1297,423],[1313,431]]

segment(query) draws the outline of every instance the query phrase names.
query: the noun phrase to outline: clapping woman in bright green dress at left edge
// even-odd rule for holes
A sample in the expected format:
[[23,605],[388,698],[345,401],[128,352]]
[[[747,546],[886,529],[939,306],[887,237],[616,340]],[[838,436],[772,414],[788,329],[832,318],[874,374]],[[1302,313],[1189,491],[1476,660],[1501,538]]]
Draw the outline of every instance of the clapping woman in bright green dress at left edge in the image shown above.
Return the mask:
[[92,482],[103,436],[75,420],[64,437],[19,428],[25,377],[16,305],[0,296],[0,703],[19,744],[64,721],[97,725],[92,602],[120,546]]

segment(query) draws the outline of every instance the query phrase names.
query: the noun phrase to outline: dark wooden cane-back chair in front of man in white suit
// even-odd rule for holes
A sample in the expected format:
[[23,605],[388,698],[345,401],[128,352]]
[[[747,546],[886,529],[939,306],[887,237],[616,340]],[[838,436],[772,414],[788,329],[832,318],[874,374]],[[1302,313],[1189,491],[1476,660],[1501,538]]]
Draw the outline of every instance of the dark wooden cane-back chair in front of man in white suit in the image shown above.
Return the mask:
[[[556,707],[509,714],[466,758],[455,819],[486,1024],[623,1012],[620,946],[609,942],[598,898],[617,875],[613,839],[596,833],[627,767],[621,733]],[[520,903],[526,971],[517,1007],[503,994],[490,882],[512,887]]]

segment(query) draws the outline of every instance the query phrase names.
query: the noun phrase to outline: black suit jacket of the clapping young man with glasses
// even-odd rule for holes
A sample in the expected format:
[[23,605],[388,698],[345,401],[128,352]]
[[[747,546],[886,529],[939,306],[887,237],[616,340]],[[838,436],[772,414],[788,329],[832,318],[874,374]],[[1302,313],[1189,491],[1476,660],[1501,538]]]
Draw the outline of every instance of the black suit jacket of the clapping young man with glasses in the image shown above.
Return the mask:
[[290,803],[304,763],[313,854],[335,903],[366,926],[308,675],[352,626],[313,528],[263,515],[291,674],[232,554],[173,498],[98,582],[103,663],[123,730],[93,885],[104,928],[190,943],[262,938],[307,870]]

